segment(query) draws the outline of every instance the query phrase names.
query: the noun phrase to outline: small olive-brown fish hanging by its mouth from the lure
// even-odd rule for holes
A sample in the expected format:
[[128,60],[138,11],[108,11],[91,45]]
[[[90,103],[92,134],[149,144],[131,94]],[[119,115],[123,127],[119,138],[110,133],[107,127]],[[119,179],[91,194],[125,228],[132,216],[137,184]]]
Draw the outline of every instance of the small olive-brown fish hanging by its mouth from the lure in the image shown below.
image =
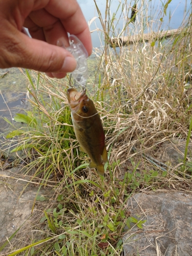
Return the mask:
[[93,101],[75,88],[67,90],[67,98],[71,109],[71,116],[75,136],[80,145],[80,151],[85,152],[91,159],[90,168],[96,168],[99,175],[104,176],[102,160],[108,162],[105,147],[105,135]]

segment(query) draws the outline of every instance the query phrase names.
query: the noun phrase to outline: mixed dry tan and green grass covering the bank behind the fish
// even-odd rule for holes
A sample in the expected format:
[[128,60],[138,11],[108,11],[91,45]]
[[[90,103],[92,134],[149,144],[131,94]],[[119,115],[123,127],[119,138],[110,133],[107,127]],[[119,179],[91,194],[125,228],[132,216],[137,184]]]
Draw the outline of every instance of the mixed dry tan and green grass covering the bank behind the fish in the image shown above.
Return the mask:
[[[79,152],[66,97],[68,78],[27,72],[31,109],[15,116],[23,124],[7,134],[14,141],[9,153],[25,160],[23,172],[30,185],[34,182],[38,191],[49,187],[53,195],[36,196],[32,211],[36,207],[39,214],[32,216],[29,227],[33,236],[22,240],[22,231],[15,232],[11,247],[8,242],[0,247],[5,255],[121,255],[125,227],[144,224],[126,207],[132,195],[191,190],[190,19],[180,35],[156,42],[149,38],[117,50],[109,45],[110,35],[117,31],[111,2],[106,3],[105,17],[99,13],[101,20],[108,20],[102,22],[105,45],[103,51],[96,50],[95,60],[88,61],[87,92],[105,131],[105,177],[90,170],[89,158]],[[150,30],[144,20],[141,34],[147,26]],[[165,156],[165,143],[173,140],[178,147],[184,141],[180,164]]]

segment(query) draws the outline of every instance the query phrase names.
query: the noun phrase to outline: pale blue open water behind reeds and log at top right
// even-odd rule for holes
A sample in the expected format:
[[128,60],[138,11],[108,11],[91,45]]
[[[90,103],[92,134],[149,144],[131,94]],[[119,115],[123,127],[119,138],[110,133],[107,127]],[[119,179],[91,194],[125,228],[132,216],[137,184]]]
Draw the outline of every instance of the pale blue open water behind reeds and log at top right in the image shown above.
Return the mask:
[[[93,0],[77,0],[84,16],[88,23],[95,17],[94,21],[90,25],[90,31],[92,33],[93,47],[99,48],[103,44],[103,32],[98,13]],[[113,25],[114,29],[111,29],[110,36],[120,35],[122,29],[126,27],[122,35],[139,33],[142,29],[144,33],[148,33],[151,30],[168,30],[177,29],[182,26],[183,20],[186,20],[191,12],[190,0],[172,0],[166,9],[166,15],[164,14],[164,6],[168,2],[167,0],[136,0],[136,1],[120,1],[112,0],[110,3],[110,16],[115,14],[115,20]],[[99,11],[101,12],[102,19],[105,17],[106,1],[96,0]],[[134,5],[137,5],[138,13],[136,15],[135,24],[127,25]],[[119,8],[119,9],[118,9]],[[128,17],[128,18],[127,18]],[[162,22],[160,20],[162,18]],[[145,26],[147,20],[147,26]]]

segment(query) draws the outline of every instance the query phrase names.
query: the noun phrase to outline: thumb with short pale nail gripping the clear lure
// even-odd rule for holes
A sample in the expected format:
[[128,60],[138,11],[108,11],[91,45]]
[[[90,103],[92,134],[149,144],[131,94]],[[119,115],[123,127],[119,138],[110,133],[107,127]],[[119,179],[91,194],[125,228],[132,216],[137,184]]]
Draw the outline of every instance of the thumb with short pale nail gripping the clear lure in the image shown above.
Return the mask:
[[75,58],[66,49],[30,38],[20,31],[9,41],[5,52],[5,68],[20,67],[48,73],[67,73],[74,71],[77,65]]

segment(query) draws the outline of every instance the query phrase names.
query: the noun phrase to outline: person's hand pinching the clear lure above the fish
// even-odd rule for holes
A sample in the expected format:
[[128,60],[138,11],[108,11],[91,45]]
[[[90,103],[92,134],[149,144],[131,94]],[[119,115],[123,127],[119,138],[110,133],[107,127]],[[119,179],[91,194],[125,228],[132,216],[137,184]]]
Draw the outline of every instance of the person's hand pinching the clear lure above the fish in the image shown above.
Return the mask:
[[[20,67],[62,78],[76,67],[76,60],[56,46],[68,34],[76,35],[92,52],[91,35],[76,0],[0,0],[0,68]],[[22,33],[29,29],[32,38]]]

